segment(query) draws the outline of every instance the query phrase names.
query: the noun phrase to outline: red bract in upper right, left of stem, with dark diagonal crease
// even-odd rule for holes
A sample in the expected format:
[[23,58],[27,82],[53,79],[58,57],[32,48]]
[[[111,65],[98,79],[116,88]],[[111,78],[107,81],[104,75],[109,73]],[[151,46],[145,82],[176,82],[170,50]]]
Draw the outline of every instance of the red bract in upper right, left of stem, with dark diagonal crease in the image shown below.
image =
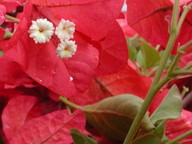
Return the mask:
[[127,0],[128,24],[136,32],[153,44],[166,45],[168,40],[168,22],[172,3],[168,0],[146,0],[145,6],[139,0]]

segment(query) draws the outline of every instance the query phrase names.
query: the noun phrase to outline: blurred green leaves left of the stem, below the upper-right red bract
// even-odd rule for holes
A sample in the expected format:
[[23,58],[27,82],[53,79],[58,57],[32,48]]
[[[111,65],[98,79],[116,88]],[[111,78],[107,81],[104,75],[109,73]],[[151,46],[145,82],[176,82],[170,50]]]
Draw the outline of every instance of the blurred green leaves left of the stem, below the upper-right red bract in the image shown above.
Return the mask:
[[[141,75],[151,75],[156,71],[161,60],[161,54],[144,39],[135,36],[127,38],[129,59],[135,64]],[[138,66],[139,64],[139,66]]]

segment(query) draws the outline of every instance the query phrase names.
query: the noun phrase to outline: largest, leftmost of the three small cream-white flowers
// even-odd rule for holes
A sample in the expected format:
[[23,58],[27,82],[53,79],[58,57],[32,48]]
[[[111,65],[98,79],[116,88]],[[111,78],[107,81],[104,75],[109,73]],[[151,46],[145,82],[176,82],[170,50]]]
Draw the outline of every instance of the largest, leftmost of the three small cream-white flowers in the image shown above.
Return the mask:
[[54,33],[53,24],[47,19],[37,19],[32,21],[29,28],[30,37],[33,38],[35,43],[46,43],[50,41]]

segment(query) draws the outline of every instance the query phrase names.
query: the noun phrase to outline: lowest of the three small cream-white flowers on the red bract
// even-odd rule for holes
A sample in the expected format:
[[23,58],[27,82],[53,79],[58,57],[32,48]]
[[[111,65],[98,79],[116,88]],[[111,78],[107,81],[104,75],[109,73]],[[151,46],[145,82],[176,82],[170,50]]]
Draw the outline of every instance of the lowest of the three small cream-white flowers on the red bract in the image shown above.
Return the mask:
[[76,50],[75,41],[66,40],[58,45],[56,53],[60,58],[70,58],[75,54]]

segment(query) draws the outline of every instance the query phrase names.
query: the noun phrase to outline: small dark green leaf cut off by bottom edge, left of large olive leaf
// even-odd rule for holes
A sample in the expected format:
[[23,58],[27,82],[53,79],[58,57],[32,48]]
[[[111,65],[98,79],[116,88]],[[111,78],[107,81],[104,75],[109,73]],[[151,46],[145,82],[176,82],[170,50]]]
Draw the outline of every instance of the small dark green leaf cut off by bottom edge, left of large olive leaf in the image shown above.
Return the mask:
[[70,132],[71,132],[71,136],[73,138],[74,144],[97,144],[95,140],[80,133],[76,129],[72,129]]

